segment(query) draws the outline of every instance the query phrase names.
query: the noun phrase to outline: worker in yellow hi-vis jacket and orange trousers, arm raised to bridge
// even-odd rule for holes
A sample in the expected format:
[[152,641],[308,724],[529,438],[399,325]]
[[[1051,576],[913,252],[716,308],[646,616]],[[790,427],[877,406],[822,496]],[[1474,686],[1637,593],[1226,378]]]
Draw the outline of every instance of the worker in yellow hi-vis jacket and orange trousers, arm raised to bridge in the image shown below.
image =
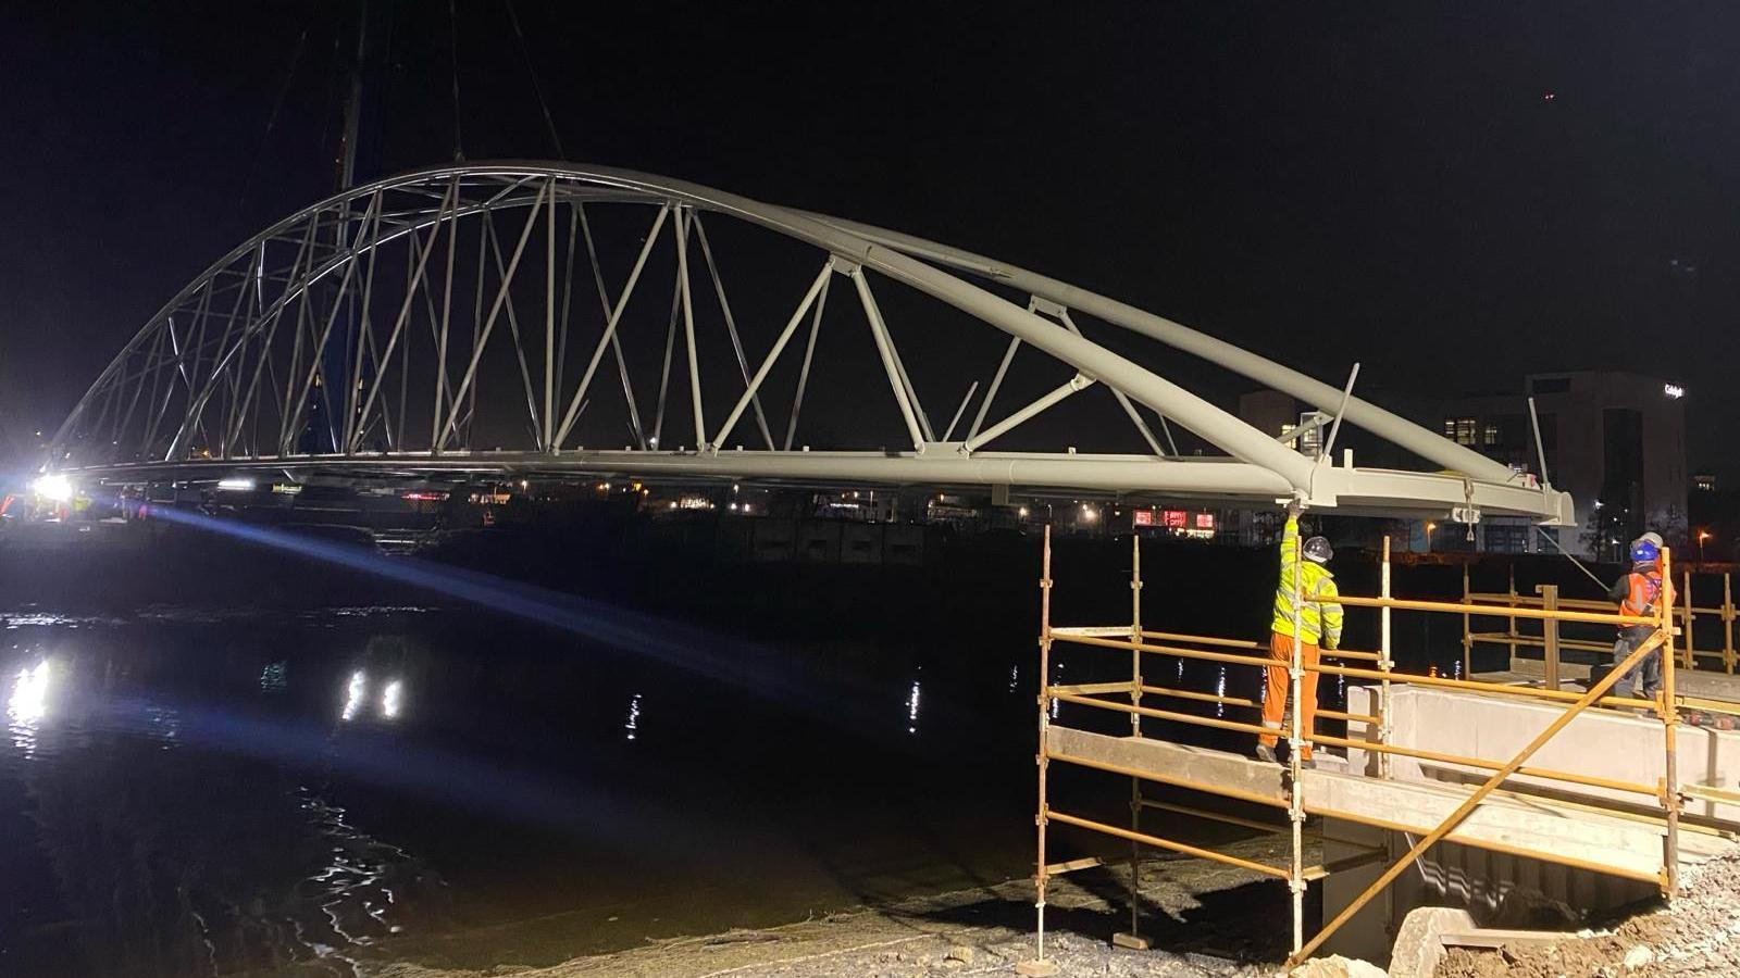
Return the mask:
[[[1288,687],[1291,677],[1288,670],[1293,663],[1293,621],[1298,620],[1300,665],[1314,667],[1322,649],[1335,651],[1342,644],[1342,604],[1335,588],[1335,574],[1329,573],[1329,559],[1335,550],[1329,541],[1314,536],[1305,541],[1305,562],[1300,555],[1300,515],[1298,505],[1288,506],[1288,526],[1281,534],[1281,583],[1275,586],[1275,620],[1270,625],[1268,658],[1275,663],[1268,667],[1268,691],[1263,696],[1263,733],[1256,738],[1256,757],[1275,760],[1275,743],[1281,738],[1281,720],[1288,710]],[[1298,573],[1298,597],[1295,606],[1293,578]],[[1317,673],[1307,672],[1300,677],[1300,734],[1315,733],[1317,720]],[[1300,750],[1300,760],[1310,764],[1310,741]]]

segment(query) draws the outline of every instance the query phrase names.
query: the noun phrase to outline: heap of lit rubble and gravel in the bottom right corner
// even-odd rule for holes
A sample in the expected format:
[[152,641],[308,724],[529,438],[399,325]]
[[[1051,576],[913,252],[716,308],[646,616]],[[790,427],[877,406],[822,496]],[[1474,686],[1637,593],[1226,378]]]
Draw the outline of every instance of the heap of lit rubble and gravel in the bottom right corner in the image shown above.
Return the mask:
[[1710,860],[1674,907],[1543,948],[1451,950],[1436,978],[1730,978],[1740,975],[1740,854]]

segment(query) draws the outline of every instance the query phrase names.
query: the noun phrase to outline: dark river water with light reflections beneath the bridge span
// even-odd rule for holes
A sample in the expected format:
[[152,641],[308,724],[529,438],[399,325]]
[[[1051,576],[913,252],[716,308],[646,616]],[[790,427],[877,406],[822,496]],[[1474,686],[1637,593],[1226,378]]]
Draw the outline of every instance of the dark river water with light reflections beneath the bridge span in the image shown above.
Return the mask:
[[[1128,614],[1117,550],[1093,553],[1060,581],[1060,623]],[[1218,573],[1168,553],[1150,557],[1152,625],[1260,637],[1267,553]],[[726,626],[717,607],[680,623],[675,599],[452,588],[0,607],[0,975],[538,966],[1027,877],[1037,545],[971,566],[873,586],[774,574]],[[840,588],[863,593],[802,633],[755,625]],[[1256,693],[1256,670],[1154,668]],[[1058,670],[1114,679],[1128,658]],[[1126,783],[1063,778],[1070,807],[1121,820]]]

